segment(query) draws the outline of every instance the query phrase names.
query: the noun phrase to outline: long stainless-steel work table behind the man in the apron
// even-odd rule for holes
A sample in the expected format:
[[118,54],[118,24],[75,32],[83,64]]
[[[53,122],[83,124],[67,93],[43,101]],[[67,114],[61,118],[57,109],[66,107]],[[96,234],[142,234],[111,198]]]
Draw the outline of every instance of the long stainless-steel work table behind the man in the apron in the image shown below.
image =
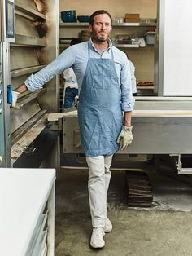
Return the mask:
[[[148,108],[151,104],[147,103]],[[172,109],[154,107],[153,110],[133,110],[133,143],[118,153],[191,154],[192,110],[173,109],[173,104],[171,107]],[[77,111],[52,113],[48,120],[57,121],[59,118],[63,118],[63,152],[81,153]]]

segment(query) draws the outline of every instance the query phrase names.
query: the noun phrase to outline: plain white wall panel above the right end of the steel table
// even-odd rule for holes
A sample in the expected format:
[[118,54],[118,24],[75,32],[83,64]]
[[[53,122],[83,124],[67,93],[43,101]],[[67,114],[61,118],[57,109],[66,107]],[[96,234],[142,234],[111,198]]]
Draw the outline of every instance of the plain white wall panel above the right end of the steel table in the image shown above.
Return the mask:
[[192,95],[192,2],[164,1],[163,95]]

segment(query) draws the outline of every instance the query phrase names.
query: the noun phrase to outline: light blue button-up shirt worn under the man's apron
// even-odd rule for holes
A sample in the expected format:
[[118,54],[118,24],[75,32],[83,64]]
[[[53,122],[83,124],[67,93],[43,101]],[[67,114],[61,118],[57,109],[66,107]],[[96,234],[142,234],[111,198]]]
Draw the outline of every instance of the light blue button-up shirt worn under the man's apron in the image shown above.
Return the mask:
[[120,51],[115,46],[112,46],[111,41],[109,41],[109,47],[103,52],[102,55],[95,49],[91,39],[89,42],[81,42],[68,47],[68,49],[63,51],[45,68],[42,68],[36,74],[32,74],[30,77],[28,77],[28,79],[24,82],[28,90],[35,91],[41,89],[41,87],[46,82],[50,81],[50,79],[55,77],[56,74],[63,73],[65,69],[72,67],[76,74],[80,93],[89,58],[88,44],[90,44],[90,58],[111,59],[111,51],[113,52],[116,73],[120,85],[121,108],[123,111],[132,111],[133,96],[129,60],[123,51]]

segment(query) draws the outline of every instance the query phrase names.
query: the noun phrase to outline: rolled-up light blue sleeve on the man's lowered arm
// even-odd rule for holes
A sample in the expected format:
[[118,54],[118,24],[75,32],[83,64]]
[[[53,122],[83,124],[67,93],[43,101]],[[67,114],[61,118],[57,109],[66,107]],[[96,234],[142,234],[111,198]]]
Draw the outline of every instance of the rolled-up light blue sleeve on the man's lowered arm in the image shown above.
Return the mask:
[[129,60],[126,58],[120,72],[121,108],[124,112],[133,110],[133,95]]

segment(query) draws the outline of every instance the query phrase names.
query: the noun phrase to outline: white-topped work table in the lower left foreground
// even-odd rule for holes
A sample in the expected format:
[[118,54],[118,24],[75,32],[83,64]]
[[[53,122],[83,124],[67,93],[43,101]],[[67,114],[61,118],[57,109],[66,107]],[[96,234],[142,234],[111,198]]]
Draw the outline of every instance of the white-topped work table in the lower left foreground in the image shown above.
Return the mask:
[[0,168],[3,256],[54,255],[55,169]]

